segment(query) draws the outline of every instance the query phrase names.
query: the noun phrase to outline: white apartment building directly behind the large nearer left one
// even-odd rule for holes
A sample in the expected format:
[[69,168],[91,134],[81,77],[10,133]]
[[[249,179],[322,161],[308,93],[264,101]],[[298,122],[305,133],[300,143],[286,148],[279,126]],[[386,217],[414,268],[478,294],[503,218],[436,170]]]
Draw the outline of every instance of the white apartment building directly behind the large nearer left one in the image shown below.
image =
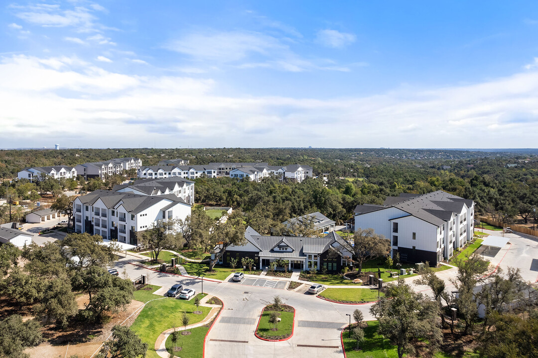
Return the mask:
[[138,179],[131,185],[116,185],[112,191],[139,195],[174,194],[187,204],[194,203],[194,181],[177,176],[162,179]]

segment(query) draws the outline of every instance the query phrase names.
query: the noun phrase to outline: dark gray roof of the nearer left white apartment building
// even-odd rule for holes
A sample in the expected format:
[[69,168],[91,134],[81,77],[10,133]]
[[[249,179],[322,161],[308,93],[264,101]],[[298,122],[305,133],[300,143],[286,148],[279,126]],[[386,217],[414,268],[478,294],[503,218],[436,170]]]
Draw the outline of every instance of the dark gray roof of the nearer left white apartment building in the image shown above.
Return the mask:
[[[93,205],[98,199],[101,199],[109,209],[113,209],[118,202],[122,201],[125,210],[132,214],[140,213],[140,211],[165,199],[171,200],[173,203],[180,202],[186,204],[183,199],[178,198],[178,196],[175,196],[174,194],[147,196],[132,193],[110,192],[106,190],[96,190],[95,192],[79,196],[79,199],[83,204],[88,205]],[[169,207],[169,204],[167,204],[166,207]]]

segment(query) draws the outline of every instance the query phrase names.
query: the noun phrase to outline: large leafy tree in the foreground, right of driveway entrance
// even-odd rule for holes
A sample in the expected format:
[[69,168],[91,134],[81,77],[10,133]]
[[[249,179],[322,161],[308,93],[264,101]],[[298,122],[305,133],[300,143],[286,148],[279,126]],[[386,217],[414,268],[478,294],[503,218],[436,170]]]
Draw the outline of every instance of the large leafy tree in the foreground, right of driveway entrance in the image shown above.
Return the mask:
[[432,354],[438,349],[443,335],[437,303],[415,293],[403,280],[389,285],[385,297],[370,312],[379,321],[378,333],[397,346],[399,358],[414,353],[413,342],[417,340],[427,340]]

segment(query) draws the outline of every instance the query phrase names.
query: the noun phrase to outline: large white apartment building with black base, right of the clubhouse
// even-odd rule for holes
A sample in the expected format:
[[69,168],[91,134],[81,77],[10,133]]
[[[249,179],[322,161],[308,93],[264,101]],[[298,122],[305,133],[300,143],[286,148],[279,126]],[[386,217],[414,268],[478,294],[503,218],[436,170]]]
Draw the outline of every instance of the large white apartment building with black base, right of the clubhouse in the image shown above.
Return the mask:
[[473,237],[475,202],[443,191],[389,196],[383,205],[358,205],[355,230],[372,228],[391,240],[391,256],[437,265]]

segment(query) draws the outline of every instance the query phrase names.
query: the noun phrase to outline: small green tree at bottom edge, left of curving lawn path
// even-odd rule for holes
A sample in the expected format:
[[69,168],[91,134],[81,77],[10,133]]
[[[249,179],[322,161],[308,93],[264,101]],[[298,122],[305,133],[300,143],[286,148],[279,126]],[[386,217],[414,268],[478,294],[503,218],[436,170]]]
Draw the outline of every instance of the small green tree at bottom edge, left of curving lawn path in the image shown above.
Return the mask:
[[140,337],[129,327],[115,325],[112,327],[112,337],[106,341],[101,349],[101,353],[110,358],[138,358],[145,357],[147,352],[147,343],[144,343]]

